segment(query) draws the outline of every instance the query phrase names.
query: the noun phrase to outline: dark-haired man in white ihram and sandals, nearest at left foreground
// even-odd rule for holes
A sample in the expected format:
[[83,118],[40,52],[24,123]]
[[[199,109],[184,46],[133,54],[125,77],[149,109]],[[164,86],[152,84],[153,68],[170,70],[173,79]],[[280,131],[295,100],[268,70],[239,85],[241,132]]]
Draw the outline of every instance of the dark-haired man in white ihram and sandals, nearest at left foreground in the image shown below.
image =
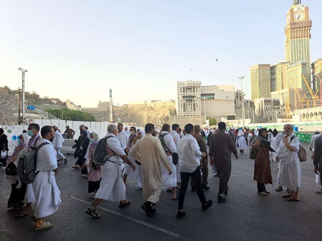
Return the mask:
[[33,203],[33,215],[37,218],[34,230],[51,228],[52,223],[44,222],[43,219],[56,212],[62,202],[55,180],[57,159],[56,150],[51,143],[55,137],[54,129],[51,126],[43,126],[41,136],[42,139],[36,144],[36,148],[43,144],[37,152],[36,171],[38,174],[32,183],[36,198]]

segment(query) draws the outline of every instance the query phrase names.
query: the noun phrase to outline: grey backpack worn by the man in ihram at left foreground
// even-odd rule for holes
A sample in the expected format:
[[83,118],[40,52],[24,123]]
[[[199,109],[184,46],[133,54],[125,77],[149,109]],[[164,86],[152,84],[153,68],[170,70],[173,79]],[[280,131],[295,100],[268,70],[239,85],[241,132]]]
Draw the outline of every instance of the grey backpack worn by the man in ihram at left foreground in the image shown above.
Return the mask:
[[18,162],[18,177],[24,184],[30,184],[35,179],[37,151],[44,145],[51,144],[48,142],[40,144],[38,147],[32,147],[32,151],[22,155]]

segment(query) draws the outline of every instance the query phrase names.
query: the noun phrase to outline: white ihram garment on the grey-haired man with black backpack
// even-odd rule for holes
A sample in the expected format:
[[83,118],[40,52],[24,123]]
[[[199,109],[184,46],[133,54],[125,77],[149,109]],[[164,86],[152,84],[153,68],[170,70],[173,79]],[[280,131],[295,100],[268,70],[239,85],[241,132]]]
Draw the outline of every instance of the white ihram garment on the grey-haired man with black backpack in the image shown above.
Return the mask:
[[[126,134],[125,131],[124,133]],[[116,155],[109,156],[110,161],[107,161],[101,166],[101,182],[99,190],[96,192],[96,198],[104,199],[106,201],[123,201],[126,200],[126,186],[121,176],[123,161],[119,156],[125,156],[125,152],[114,134],[107,133],[106,136],[112,136],[107,139],[107,146],[113,150]]]

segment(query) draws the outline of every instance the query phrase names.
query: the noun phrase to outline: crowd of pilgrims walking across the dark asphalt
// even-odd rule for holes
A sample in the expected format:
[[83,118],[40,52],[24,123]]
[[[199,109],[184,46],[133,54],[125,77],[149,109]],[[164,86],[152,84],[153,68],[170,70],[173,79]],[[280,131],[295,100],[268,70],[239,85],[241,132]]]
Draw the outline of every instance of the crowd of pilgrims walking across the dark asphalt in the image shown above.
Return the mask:
[[[135,190],[142,190],[143,204],[141,208],[146,215],[156,214],[154,205],[159,201],[162,190],[171,192],[173,201],[178,201],[177,218],[183,218],[185,192],[190,181],[191,192],[196,192],[201,209],[212,206],[212,200],[206,200],[204,192],[210,188],[208,184],[208,159],[212,166],[214,177],[219,177],[217,201],[226,201],[223,195],[228,194],[228,181],[231,175],[231,154],[238,159],[237,150],[244,154],[249,148],[255,153],[254,180],[257,182],[258,194],[267,196],[265,185],[272,184],[271,161],[279,163],[278,183],[275,191],[287,189],[284,195],[287,201],[299,201],[301,182],[301,167],[297,152],[300,148],[299,139],[295,138],[293,126],[286,124],[282,132],[276,129],[267,130],[246,127],[227,128],[224,122],[217,128],[201,129],[199,125],[187,124],[183,129],[179,125],[172,127],[164,124],[156,129],[153,124],[147,124],[144,130],[130,127],[123,129],[119,123],[109,124],[107,134],[103,138],[104,155],[107,161],[95,163],[95,150],[99,143],[99,135],[90,132],[84,125],[80,126],[80,136],[75,139],[73,169],[81,169],[81,175],[88,178],[88,193],[93,202],[85,211],[94,219],[101,217],[96,211],[97,205],[103,200],[119,202],[119,208],[131,204],[126,198],[126,183],[130,178],[135,183]],[[44,218],[52,215],[61,204],[60,191],[55,181],[58,173],[58,162],[67,158],[61,153],[61,131],[55,126],[44,126],[41,130],[38,124],[31,124],[28,131],[19,136],[18,146],[12,156],[7,155],[8,141],[3,129],[0,129],[1,161],[6,166],[4,179],[11,183],[11,194],[8,208],[16,209],[15,218],[27,217],[36,223],[34,230],[51,228],[50,222]],[[19,158],[30,152],[37,145],[44,145],[37,152],[37,175],[31,184],[24,184],[12,169],[18,166]],[[313,144],[312,144],[313,143]],[[322,136],[316,131],[310,150],[313,152],[317,182],[320,151],[314,155],[314,149],[322,146]],[[4,154],[3,154],[4,153]],[[320,182],[319,182],[320,183]],[[322,193],[319,189],[317,193]]]

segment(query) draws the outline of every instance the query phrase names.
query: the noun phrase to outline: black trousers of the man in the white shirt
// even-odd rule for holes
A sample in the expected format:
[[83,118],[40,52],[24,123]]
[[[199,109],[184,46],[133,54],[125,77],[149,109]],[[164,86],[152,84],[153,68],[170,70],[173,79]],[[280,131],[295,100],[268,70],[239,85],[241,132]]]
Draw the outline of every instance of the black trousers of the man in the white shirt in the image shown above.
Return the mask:
[[180,172],[181,175],[181,187],[179,191],[179,204],[178,209],[183,209],[183,203],[185,202],[185,192],[187,191],[189,178],[191,177],[194,182],[194,188],[197,192],[198,198],[202,205],[206,204],[206,198],[204,197],[204,190],[201,188],[201,172],[200,166],[192,173]]

